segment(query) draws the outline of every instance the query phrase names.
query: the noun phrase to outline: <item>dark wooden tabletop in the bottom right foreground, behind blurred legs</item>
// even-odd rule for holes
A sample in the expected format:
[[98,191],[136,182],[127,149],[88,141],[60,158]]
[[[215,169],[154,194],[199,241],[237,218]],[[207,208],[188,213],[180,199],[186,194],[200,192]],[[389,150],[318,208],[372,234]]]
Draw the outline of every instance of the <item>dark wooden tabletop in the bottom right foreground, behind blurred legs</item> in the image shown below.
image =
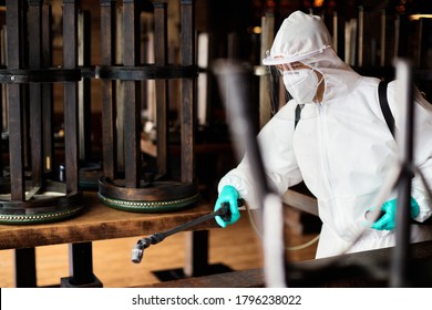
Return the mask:
[[[393,248],[354,252],[332,258],[290,264],[289,287],[388,287]],[[412,245],[411,285],[432,282],[432,241]],[[380,271],[379,271],[380,270]],[[259,288],[265,287],[264,269],[247,269],[175,281],[157,282],[147,288]]]

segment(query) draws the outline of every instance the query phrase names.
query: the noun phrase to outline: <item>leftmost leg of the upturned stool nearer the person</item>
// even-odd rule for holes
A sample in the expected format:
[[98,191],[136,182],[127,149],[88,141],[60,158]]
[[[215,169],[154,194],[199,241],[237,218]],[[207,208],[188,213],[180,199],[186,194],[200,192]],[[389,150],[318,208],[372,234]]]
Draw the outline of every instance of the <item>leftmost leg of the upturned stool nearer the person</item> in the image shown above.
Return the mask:
[[[115,42],[115,0],[101,0],[101,64],[111,66],[114,63]],[[110,179],[115,178],[117,158],[117,135],[115,131],[115,82],[101,80],[102,83],[102,152],[103,174]]]

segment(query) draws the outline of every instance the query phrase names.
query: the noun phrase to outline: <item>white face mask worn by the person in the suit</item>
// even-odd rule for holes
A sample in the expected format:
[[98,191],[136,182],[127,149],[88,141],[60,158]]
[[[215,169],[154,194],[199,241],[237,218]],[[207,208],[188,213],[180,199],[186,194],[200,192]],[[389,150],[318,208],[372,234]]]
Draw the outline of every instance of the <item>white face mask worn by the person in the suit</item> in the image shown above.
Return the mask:
[[299,104],[312,103],[321,83],[312,69],[284,71],[282,79],[285,87]]

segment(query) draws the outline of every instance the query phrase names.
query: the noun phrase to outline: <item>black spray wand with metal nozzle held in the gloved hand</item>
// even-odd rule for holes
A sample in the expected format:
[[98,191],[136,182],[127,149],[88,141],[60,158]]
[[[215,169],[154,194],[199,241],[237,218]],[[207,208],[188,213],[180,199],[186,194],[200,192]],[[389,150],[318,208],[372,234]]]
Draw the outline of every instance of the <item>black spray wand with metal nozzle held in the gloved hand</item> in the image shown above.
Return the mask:
[[[240,207],[245,204],[245,200],[238,199],[237,204]],[[140,239],[136,242],[136,245],[134,246],[134,248],[132,249],[132,262],[140,264],[141,260],[143,259],[143,256],[144,256],[144,249],[148,248],[151,245],[156,245],[156,244],[163,241],[166,237],[169,237],[174,234],[186,230],[187,228],[191,228],[195,225],[202,224],[206,220],[214,219],[216,216],[220,216],[222,219],[224,219],[225,221],[229,221],[232,218],[232,211],[229,209],[229,204],[224,203],[224,204],[222,204],[222,207],[214,213],[210,213],[208,215],[198,217],[194,220],[187,221],[187,223],[179,225],[173,229],[169,229],[169,230],[166,230],[163,232],[156,232],[156,234],[153,234],[152,236]]]

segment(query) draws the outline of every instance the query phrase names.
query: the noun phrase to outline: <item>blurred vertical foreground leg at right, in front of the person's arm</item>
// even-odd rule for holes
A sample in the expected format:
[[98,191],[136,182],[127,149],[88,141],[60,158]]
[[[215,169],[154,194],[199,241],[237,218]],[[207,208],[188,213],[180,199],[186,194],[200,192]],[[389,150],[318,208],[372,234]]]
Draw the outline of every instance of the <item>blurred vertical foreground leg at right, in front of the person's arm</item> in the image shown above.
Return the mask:
[[405,115],[402,128],[397,136],[400,161],[402,164],[401,176],[398,183],[397,206],[397,245],[391,260],[391,287],[407,287],[408,267],[410,260],[410,205],[411,205],[411,178],[413,159],[413,124],[414,107],[412,95],[412,70],[407,60],[398,60],[395,63],[397,80],[401,85],[398,87],[398,97],[401,99],[401,115]]

